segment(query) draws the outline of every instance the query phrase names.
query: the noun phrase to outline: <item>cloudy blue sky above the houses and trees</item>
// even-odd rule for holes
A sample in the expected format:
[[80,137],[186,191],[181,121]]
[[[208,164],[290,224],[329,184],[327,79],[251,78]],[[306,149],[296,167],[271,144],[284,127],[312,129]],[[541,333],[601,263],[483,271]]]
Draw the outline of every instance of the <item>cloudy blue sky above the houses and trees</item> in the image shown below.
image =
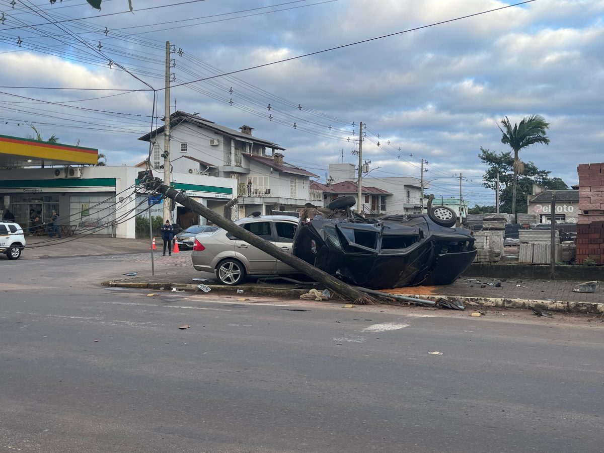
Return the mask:
[[322,178],[342,153],[355,161],[359,121],[371,176],[419,177],[426,159],[431,191],[458,194],[452,175],[462,173],[472,203],[494,201],[477,155],[481,146],[507,150],[497,128],[506,115],[551,123],[551,144],[521,158],[569,185],[577,164],[603,160],[604,0],[535,0],[484,14],[513,2],[132,0],[134,13],[127,4],[0,0],[0,134],[23,137],[33,123],[44,138],[98,148],[110,165],[140,162],[152,89],[163,115],[169,40],[182,50],[172,56],[173,106],[249,124]]

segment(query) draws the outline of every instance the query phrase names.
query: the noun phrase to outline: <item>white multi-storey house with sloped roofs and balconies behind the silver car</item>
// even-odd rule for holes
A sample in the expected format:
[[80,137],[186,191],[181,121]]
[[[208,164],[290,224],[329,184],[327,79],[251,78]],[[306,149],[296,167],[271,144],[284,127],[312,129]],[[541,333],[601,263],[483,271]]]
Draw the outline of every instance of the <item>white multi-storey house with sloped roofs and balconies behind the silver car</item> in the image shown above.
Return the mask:
[[[254,211],[301,211],[315,202],[310,196],[310,178],[317,175],[283,160],[285,149],[252,135],[252,127],[240,130],[221,126],[198,115],[170,115],[170,165],[172,172],[221,176],[237,180],[239,200],[234,217]],[[164,163],[164,127],[139,140],[152,141],[152,167]]]

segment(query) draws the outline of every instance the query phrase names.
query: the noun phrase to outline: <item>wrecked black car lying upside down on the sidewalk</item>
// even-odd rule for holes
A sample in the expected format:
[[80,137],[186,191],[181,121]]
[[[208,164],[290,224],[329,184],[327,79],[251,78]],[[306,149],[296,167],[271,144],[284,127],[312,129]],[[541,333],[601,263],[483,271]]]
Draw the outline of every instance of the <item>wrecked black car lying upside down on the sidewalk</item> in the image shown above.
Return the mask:
[[449,284],[474,260],[474,237],[464,228],[451,228],[457,216],[447,207],[365,219],[350,211],[354,204],[354,198],[344,197],[333,201],[330,210],[303,215],[294,255],[372,289]]

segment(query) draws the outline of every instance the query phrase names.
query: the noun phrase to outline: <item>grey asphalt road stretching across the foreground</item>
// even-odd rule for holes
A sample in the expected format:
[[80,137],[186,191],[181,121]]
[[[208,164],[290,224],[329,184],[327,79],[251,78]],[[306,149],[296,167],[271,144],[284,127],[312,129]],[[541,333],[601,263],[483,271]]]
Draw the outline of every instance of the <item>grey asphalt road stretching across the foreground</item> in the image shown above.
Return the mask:
[[132,268],[0,262],[0,452],[602,451],[602,327],[96,286]]

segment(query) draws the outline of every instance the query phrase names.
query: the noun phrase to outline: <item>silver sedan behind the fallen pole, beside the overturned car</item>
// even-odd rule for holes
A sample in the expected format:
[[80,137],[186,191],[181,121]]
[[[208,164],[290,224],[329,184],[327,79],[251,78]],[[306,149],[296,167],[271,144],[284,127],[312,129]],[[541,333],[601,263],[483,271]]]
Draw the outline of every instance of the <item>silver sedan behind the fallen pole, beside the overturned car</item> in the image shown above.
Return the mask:
[[[235,223],[277,247],[292,252],[294,234],[298,225],[298,219],[295,217],[245,217],[236,220]],[[195,236],[191,260],[195,269],[216,272],[216,277],[223,284],[228,285],[241,283],[248,274],[297,273],[291,266],[222,229]]]

